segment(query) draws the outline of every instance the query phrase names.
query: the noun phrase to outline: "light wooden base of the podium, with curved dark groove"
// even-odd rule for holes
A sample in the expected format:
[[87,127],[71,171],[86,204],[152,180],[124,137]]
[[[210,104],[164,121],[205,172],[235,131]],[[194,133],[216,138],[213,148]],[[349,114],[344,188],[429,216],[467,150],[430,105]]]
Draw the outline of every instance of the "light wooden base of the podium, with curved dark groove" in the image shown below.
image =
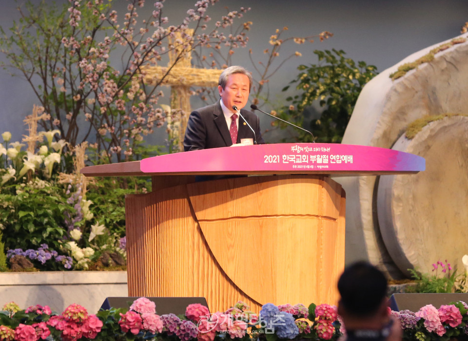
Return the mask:
[[154,189],[126,197],[129,296],[202,296],[212,312],[238,300],[256,312],[265,303],[336,304],[345,193],[329,177]]

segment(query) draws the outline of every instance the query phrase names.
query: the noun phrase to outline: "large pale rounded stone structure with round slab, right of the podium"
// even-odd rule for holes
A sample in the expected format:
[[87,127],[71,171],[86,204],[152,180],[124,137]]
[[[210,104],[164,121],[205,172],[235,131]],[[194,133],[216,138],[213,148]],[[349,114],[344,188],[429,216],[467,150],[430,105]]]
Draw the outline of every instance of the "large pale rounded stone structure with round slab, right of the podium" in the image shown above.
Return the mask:
[[[466,37],[467,35],[463,35],[457,38]],[[453,44],[448,49],[436,53],[433,60],[422,63],[406,75],[396,80],[390,78],[390,74],[395,72],[398,66],[413,62],[451,40],[421,50],[385,70],[364,87],[358,98],[342,143],[394,148],[402,151],[413,150],[421,156],[430,155],[430,158],[427,158],[428,162],[434,162],[434,155],[447,159],[438,168],[428,165],[424,179],[421,180],[423,183],[417,186],[414,183],[410,186],[406,183],[407,187],[404,188],[404,192],[402,192],[401,181],[403,180],[401,179],[408,180],[409,177],[419,174],[401,175],[404,178],[360,176],[336,179],[347,192],[347,262],[368,259],[387,271],[391,277],[398,278],[410,266],[418,267],[422,271],[430,271],[431,263],[439,258],[461,265],[459,259],[468,253],[468,247],[462,249],[460,243],[453,244],[462,240],[465,245],[468,245],[468,232],[455,233],[455,230],[451,228],[453,224],[460,224],[458,227],[460,231],[468,227],[468,207],[465,206],[465,209],[462,209],[459,205],[465,203],[468,197],[467,161],[460,161],[468,155],[467,118],[451,116],[429,123],[421,130],[421,133],[418,133],[421,135],[416,136],[414,141],[405,141],[405,137],[402,137],[411,122],[424,116],[449,113],[468,114],[468,42]],[[448,129],[449,127],[451,128]],[[447,134],[455,135],[454,139],[448,139]],[[453,151],[450,151],[450,146],[455,143],[454,141],[457,141],[457,151],[461,155],[458,159],[453,159]],[[436,149],[432,147],[434,144],[438,144]],[[411,238],[416,237],[415,230],[411,228],[415,227],[409,227],[409,221],[399,220],[399,216],[401,214],[410,216],[409,209],[419,210],[418,214],[424,213],[422,206],[427,202],[414,201],[411,206],[408,204],[409,198],[415,194],[413,191],[424,187],[424,181],[434,181],[434,177],[429,176],[429,173],[440,173],[444,170],[442,167],[445,167],[446,176],[438,180],[440,186],[453,191],[452,196],[445,198],[446,207],[456,208],[458,212],[450,213],[450,209],[445,212],[440,209],[428,210],[425,213],[427,219],[421,222],[423,224],[421,228],[425,231],[424,238],[418,240],[420,247],[417,252],[411,254],[409,250],[415,246]],[[457,176],[465,181],[452,179]],[[382,182],[380,186],[379,182]],[[426,183],[426,185],[433,187],[434,184]],[[400,193],[397,193],[398,191]],[[391,199],[384,198],[385,196],[390,196]],[[406,205],[401,205],[400,202],[398,203],[400,211],[395,210],[394,201],[403,198],[406,198],[403,200]],[[421,201],[420,197],[417,198]],[[427,200],[434,201],[434,198],[429,197]],[[433,208],[441,207],[440,203],[435,202],[430,205]],[[444,215],[458,218],[456,220],[441,219]],[[397,221],[399,223],[396,223]],[[398,224],[400,224],[399,227]],[[434,231],[446,230],[449,233],[446,236],[431,233],[429,224],[436,224],[433,227]],[[465,225],[462,226],[463,224]],[[435,239],[438,239],[439,243],[435,243]],[[428,241],[427,246],[424,245],[425,240]]]

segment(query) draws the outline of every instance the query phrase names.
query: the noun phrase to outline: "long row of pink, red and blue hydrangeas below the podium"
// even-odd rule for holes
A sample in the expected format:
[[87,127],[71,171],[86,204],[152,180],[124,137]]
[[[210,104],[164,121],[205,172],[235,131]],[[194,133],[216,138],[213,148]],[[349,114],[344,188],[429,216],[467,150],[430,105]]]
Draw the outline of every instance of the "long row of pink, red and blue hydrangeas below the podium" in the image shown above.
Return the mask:
[[156,314],[155,303],[138,298],[130,308],[100,310],[88,314],[71,304],[61,314],[46,306],[20,310],[5,304],[0,313],[0,341],[39,340],[171,340],[215,341],[250,339],[336,340],[341,336],[336,307],[328,304],[307,308],[303,304],[265,304],[259,316],[238,302],[224,312],[210,314],[204,305],[187,306],[185,315]]

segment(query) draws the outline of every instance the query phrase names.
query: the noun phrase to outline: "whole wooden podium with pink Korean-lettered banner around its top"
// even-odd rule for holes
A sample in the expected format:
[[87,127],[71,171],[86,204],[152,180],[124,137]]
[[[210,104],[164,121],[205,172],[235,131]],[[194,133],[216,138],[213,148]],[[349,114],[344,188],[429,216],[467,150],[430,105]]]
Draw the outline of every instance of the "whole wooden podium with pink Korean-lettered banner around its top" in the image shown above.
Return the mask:
[[[129,296],[203,296],[336,304],[344,268],[345,193],[329,174],[424,170],[424,159],[339,144],[273,144],[91,166],[87,176],[151,175],[126,197]],[[195,175],[262,175],[197,182]]]

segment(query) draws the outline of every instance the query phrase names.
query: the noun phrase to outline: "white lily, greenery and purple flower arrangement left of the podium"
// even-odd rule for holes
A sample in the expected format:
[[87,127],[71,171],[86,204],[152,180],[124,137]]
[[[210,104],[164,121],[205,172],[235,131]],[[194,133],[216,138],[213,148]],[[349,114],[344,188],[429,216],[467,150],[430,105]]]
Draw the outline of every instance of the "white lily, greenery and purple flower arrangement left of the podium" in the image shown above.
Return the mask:
[[[36,116],[42,112],[36,108]],[[121,201],[134,191],[85,179],[78,170],[86,145],[67,152],[67,143],[54,137],[58,130],[30,129],[24,150],[24,143],[11,142],[11,133],[1,134],[0,252],[7,264],[0,262],[0,270],[125,268]],[[70,168],[74,173],[66,173]]]

